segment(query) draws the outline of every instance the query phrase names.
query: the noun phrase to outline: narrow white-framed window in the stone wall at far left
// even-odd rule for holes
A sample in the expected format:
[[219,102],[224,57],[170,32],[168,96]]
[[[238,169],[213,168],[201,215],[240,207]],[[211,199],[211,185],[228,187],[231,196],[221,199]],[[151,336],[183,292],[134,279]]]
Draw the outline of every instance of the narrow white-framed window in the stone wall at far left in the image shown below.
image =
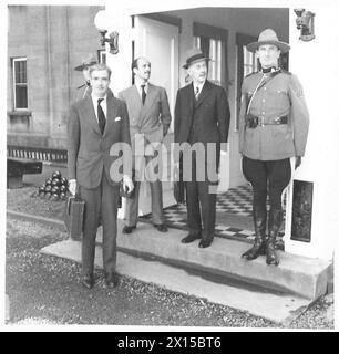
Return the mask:
[[13,59],[14,110],[28,110],[27,58]]

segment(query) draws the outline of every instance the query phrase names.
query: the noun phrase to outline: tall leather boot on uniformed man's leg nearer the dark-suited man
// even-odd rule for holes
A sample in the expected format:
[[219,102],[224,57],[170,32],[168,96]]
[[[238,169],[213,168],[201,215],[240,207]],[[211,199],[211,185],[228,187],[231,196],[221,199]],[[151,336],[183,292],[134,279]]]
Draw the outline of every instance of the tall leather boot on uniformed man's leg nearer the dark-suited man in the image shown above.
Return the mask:
[[253,219],[255,225],[256,238],[254,246],[242,254],[242,258],[246,258],[247,260],[256,259],[260,254],[265,254],[266,248],[266,209],[254,208]]

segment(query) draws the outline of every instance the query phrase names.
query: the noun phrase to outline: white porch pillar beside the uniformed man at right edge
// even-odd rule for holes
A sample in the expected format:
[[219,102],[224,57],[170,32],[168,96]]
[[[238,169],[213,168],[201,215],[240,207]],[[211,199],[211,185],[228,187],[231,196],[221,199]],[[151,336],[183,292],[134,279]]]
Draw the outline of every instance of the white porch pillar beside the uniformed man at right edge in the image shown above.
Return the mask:
[[316,39],[310,42],[299,40],[296,14],[294,8],[290,8],[289,70],[304,86],[310,114],[306,156],[301,167],[296,170],[295,179],[314,184],[311,241],[307,243],[290,240],[289,208],[285,250],[331,259],[339,237],[339,9],[328,3],[309,7],[306,3],[305,8],[316,13]]

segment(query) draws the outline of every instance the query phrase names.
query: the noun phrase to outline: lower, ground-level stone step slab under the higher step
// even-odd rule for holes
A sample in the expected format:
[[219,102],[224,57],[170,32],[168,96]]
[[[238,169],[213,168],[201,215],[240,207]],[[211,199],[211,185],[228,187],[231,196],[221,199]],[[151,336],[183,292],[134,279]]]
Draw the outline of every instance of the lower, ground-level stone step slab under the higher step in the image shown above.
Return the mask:
[[[132,237],[131,237],[132,238]],[[66,240],[44,247],[42,253],[81,261],[81,243]],[[95,266],[102,269],[102,248],[96,246]],[[209,302],[249,312],[254,315],[288,326],[311,303],[290,294],[263,291],[232,281],[217,281],[210,273],[192,271],[154,258],[117,252],[116,272],[171,291],[205,299]]]

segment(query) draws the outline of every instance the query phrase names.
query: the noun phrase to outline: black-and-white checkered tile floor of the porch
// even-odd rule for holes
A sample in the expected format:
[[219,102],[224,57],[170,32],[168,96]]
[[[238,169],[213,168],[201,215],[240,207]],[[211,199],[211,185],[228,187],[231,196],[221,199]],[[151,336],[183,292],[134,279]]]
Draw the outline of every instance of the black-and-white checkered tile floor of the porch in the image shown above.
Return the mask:
[[[249,185],[230,188],[224,194],[217,196],[216,211],[229,212],[238,216],[251,217],[251,187]],[[174,205],[164,209],[166,223],[171,228],[187,230],[187,210],[184,205]],[[140,217],[140,221],[152,222],[151,214]],[[282,228],[281,228],[282,229]],[[236,239],[244,242],[253,242],[255,239],[254,231],[234,228],[223,223],[216,223],[215,236]],[[277,239],[277,247],[284,249],[284,233]]]

